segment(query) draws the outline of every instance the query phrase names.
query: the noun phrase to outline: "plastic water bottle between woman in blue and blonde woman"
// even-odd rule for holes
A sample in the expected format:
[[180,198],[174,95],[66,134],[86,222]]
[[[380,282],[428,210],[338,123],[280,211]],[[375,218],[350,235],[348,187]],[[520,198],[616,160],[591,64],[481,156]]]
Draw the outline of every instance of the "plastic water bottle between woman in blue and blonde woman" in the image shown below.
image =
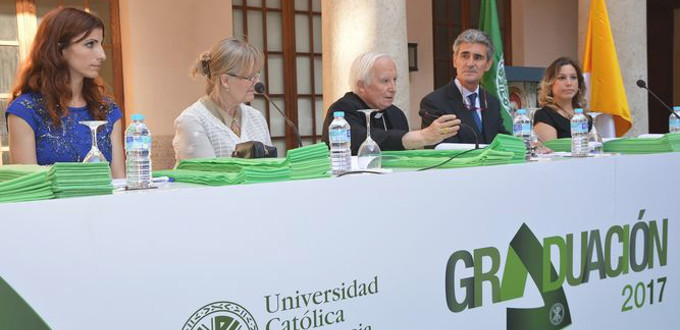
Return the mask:
[[125,130],[125,176],[128,189],[151,186],[151,133],[144,124],[144,115],[131,116],[132,124]]

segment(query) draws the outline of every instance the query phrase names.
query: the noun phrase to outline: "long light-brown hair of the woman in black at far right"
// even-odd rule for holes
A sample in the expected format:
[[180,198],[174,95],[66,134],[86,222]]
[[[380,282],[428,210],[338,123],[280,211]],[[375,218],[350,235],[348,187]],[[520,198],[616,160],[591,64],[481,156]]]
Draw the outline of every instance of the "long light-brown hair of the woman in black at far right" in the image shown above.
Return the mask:
[[560,69],[565,65],[571,65],[576,70],[576,76],[578,77],[578,92],[571,99],[571,106],[575,108],[585,108],[586,107],[586,82],[583,78],[583,71],[578,62],[569,57],[560,57],[550,64],[550,66],[545,70],[543,79],[541,80],[541,91],[538,94],[538,105],[541,107],[549,106],[555,110],[562,110],[556,102],[552,95],[552,86],[557,79],[557,75],[560,73]]

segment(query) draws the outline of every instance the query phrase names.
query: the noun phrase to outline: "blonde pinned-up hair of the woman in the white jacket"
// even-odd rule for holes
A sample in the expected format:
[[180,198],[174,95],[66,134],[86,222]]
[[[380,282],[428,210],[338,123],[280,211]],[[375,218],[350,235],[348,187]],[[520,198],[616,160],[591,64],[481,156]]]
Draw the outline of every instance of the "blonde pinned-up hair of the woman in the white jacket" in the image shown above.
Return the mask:
[[259,72],[263,66],[262,50],[243,37],[232,37],[220,40],[209,51],[201,53],[191,67],[191,76],[205,76],[205,93],[210,95],[223,74],[243,77]]

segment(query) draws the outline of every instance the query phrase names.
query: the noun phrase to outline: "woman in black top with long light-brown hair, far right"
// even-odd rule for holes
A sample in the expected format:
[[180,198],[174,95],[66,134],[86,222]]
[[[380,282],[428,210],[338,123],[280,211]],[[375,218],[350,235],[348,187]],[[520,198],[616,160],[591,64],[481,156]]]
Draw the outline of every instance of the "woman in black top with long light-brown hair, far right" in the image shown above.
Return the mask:
[[[541,141],[571,137],[570,120],[574,109],[585,107],[585,93],[586,83],[578,62],[560,57],[550,64],[541,81],[541,109],[534,114],[534,131]],[[590,118],[589,122],[590,129]]]

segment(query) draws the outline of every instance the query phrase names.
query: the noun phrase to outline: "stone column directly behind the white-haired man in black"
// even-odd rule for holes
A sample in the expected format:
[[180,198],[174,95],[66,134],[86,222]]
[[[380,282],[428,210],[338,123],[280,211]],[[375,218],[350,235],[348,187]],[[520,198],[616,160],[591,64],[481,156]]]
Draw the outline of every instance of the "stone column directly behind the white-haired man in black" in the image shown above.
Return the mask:
[[324,108],[350,91],[347,79],[354,58],[377,51],[390,54],[397,62],[394,104],[408,117],[406,1],[322,0],[321,17]]

